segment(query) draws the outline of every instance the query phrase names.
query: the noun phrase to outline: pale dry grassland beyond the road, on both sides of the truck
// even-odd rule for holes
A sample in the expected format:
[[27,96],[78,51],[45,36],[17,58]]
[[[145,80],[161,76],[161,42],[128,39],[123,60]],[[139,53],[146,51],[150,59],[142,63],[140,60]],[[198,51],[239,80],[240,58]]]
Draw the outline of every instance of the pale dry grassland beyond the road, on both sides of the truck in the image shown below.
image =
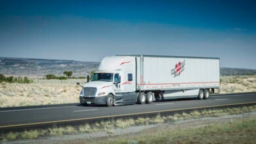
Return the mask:
[[[0,83],[0,107],[79,103],[86,79],[33,80],[32,84]],[[221,77],[221,94],[256,92],[256,75]]]

